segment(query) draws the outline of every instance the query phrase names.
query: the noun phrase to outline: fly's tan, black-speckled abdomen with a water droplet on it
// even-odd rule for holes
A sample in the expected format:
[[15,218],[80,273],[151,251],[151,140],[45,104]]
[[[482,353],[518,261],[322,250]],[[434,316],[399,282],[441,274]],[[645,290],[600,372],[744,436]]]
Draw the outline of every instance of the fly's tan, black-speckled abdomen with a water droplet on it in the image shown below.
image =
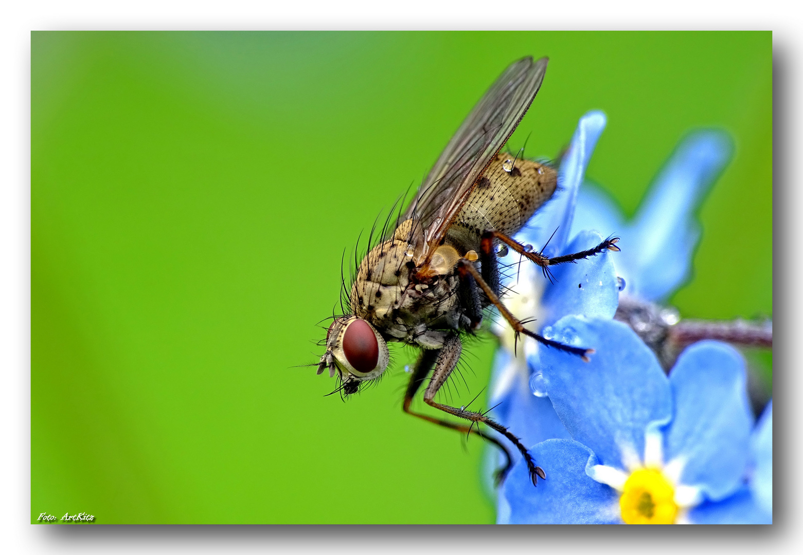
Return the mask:
[[480,178],[455,225],[516,234],[555,192],[557,172],[548,165],[499,152]]

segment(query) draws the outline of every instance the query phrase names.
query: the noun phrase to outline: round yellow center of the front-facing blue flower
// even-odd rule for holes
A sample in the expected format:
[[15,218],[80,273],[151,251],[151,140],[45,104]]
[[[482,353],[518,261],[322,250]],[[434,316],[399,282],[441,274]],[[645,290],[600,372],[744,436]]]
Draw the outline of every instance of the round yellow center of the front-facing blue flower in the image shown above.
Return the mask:
[[671,525],[678,515],[675,488],[656,468],[630,474],[619,498],[622,520],[629,525]]

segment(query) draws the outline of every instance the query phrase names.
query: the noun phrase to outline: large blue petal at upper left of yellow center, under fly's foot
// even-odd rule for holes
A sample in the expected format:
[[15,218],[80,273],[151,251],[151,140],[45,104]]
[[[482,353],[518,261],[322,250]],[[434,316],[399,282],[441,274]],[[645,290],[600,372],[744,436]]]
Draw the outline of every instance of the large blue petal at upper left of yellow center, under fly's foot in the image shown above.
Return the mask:
[[615,320],[567,316],[544,336],[597,350],[589,363],[555,349],[540,351],[549,398],[573,439],[616,468],[625,468],[623,449],[643,456],[647,425],[671,418],[669,380],[653,352]]

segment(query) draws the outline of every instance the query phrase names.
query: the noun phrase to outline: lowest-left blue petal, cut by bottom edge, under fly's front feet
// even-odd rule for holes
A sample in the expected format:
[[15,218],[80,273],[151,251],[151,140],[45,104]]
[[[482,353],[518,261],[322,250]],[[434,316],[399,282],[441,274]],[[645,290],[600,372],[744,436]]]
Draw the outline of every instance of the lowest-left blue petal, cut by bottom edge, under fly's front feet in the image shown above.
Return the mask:
[[[589,478],[593,452],[571,440],[547,440],[530,450],[546,472],[534,487],[527,465],[516,464],[500,493],[499,524],[619,524],[618,493]],[[508,510],[509,509],[509,510]]]

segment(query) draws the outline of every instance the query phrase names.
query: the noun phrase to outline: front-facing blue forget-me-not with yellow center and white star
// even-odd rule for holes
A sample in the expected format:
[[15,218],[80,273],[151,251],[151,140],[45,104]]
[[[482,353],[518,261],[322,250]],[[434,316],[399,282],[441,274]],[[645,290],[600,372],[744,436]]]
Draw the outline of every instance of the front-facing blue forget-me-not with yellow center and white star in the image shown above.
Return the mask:
[[567,316],[544,330],[593,344],[590,363],[540,354],[544,388],[571,440],[532,448],[547,479],[516,464],[500,523],[671,524],[772,521],[772,406],[753,431],[744,360],[703,341],[667,377],[622,322]]

